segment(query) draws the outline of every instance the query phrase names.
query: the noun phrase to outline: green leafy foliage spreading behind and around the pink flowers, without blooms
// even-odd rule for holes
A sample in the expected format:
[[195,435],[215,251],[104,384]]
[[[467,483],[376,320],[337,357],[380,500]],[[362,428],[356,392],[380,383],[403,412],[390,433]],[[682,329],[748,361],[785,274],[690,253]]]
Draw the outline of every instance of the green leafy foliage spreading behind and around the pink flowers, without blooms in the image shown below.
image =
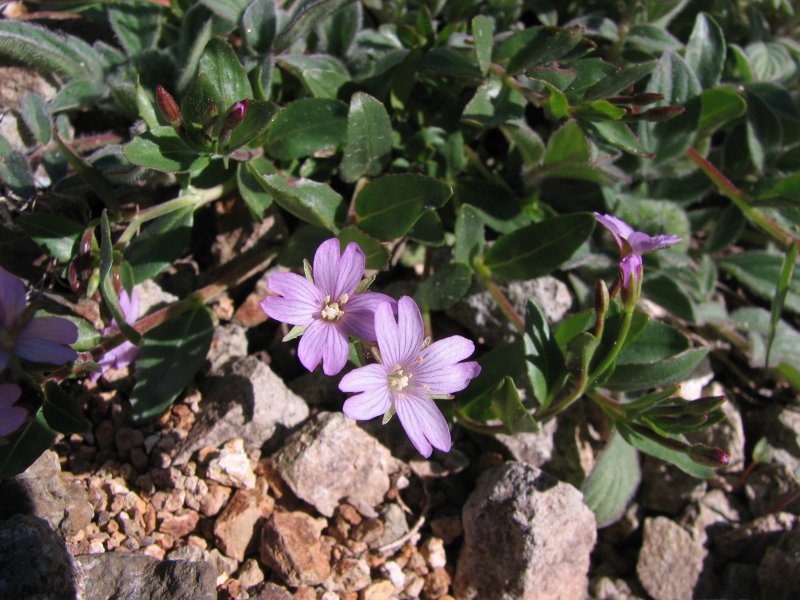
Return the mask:
[[[800,334],[781,319],[800,310],[800,20],[788,0],[31,4],[69,10],[91,39],[0,21],[0,56],[58,84],[50,100],[23,99],[31,145],[0,139],[0,179],[53,277],[118,324],[101,337],[69,316],[88,354],[50,373],[51,389],[127,340],[140,348],[135,419],[179,396],[210,344],[206,303],[265,257],[133,324],[119,296],[183,256],[196,212],[231,194],[254,220],[280,210],[292,224],[269,260],[298,267],[334,235],[370,269],[423,264],[426,319],[484,285],[519,338],[485,352],[442,407],[461,426],[516,432],[595,402],[617,432],[584,483],[600,523],[635,491],[637,449],[699,477],[724,462],[684,437],[722,418],[719,399],[676,396],[709,353],[689,332],[800,387]],[[76,135],[85,110],[110,133]],[[150,191],[164,186],[176,196]],[[648,254],[635,293],[617,294],[624,257],[593,235],[592,211],[684,241]],[[449,257],[435,270],[434,250]],[[557,324],[534,302],[515,314],[498,285],[552,273],[580,308]],[[668,321],[634,310],[640,296]],[[40,409],[0,447],[3,475],[80,422],[68,396],[57,402],[72,418]]]

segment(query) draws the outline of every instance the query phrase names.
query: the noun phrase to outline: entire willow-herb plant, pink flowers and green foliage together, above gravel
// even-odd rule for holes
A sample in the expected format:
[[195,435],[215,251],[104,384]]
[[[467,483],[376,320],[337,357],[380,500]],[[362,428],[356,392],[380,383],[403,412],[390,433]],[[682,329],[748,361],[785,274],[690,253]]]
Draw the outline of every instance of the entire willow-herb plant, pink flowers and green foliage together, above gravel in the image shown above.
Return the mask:
[[[0,20],[0,57],[55,86],[12,101],[20,135],[0,137],[3,240],[25,242],[0,262],[38,291],[28,306],[0,271],[0,477],[83,431],[67,390],[137,350],[127,400],[157,419],[231,303],[250,352],[280,352],[276,323],[241,316],[262,300],[306,369],[354,363],[347,414],[396,411],[422,454],[591,403],[601,525],[636,493],[638,452],[725,466],[691,441],[724,418],[724,395],[679,395],[696,367],[800,388],[800,17],[588,4],[71,2],[80,36]],[[404,296],[398,320],[365,271]],[[134,314],[140,286],[180,297]],[[527,297],[548,286],[571,305]],[[445,331],[463,336],[422,348]]]

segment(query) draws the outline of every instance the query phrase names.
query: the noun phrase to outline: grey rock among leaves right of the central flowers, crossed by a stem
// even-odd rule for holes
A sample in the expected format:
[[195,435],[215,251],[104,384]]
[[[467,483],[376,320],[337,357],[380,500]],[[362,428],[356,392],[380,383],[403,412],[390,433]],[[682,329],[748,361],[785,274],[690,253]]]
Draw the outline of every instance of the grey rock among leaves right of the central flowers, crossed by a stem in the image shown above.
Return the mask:
[[[572,306],[572,296],[567,286],[550,275],[514,281],[500,285],[500,289],[522,317],[531,298],[544,309],[550,322],[560,320]],[[458,304],[448,309],[447,314],[462,323],[476,338],[482,337],[490,346],[510,342],[519,335],[489,292],[477,286]]]

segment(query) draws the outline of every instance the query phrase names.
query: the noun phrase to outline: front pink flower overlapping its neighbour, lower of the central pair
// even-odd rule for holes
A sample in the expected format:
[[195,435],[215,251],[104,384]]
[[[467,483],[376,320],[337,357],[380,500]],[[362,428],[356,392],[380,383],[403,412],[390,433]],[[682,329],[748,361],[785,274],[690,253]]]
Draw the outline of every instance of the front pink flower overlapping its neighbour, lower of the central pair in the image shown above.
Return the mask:
[[[463,390],[480,373],[475,361],[460,362],[475,351],[468,339],[454,335],[427,345],[417,304],[404,296],[395,321],[390,304],[375,311],[381,362],[355,369],[339,384],[343,392],[360,392],[344,403],[344,414],[367,420],[394,412],[411,443],[426,458],[433,448],[450,450],[450,430],[435,397]],[[427,340],[429,341],[429,340]]]

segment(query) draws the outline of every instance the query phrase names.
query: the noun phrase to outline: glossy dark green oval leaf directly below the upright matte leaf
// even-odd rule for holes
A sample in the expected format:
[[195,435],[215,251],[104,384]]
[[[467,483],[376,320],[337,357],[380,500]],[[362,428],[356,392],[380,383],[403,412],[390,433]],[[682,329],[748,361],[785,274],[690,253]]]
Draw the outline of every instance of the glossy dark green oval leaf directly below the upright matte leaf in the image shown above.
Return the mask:
[[408,233],[422,213],[443,206],[452,194],[449,185],[432,177],[384,175],[356,196],[356,222],[367,233],[390,241]]

